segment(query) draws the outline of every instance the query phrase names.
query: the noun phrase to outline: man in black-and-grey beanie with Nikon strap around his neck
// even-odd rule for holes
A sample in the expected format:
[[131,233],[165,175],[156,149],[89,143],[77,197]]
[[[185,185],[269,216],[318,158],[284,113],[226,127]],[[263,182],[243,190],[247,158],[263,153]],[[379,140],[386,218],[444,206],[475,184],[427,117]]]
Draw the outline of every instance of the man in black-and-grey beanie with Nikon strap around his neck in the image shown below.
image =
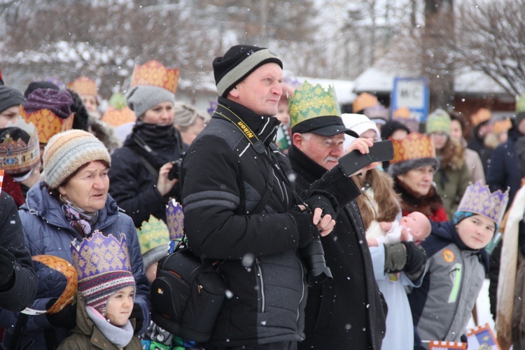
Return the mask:
[[297,248],[332,231],[337,203],[328,193],[300,200],[290,163],[272,144],[281,60],[267,48],[235,45],[213,66],[218,106],[180,177],[188,243],[202,258],[223,260],[231,292],[205,345],[296,349],[307,291]]

